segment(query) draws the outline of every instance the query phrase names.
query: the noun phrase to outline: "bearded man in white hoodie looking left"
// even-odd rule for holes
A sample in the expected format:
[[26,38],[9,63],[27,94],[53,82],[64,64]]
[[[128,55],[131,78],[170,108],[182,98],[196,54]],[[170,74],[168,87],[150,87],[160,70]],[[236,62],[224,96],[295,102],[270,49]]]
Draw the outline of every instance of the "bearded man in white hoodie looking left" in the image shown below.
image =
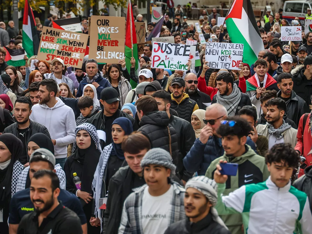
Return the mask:
[[53,79],[40,82],[39,104],[32,107],[30,120],[46,126],[55,149],[56,163],[64,167],[67,145],[75,141],[76,120],[74,111],[56,97],[58,85]]

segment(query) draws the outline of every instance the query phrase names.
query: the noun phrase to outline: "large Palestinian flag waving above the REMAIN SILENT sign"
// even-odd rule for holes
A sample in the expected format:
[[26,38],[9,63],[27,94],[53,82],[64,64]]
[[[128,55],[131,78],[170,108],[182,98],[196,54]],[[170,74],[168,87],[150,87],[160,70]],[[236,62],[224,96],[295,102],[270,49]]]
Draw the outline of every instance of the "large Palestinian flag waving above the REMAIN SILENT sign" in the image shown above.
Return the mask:
[[234,0],[225,21],[231,41],[244,44],[243,62],[252,65],[264,46],[250,0]]

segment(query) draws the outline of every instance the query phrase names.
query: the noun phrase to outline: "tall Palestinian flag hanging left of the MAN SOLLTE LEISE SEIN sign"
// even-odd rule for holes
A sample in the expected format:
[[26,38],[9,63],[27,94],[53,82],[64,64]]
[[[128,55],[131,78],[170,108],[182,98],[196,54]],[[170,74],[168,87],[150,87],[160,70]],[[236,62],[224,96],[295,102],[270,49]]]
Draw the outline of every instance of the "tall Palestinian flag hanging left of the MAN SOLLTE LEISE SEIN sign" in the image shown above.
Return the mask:
[[24,18],[23,18],[23,48],[27,56],[31,57],[38,54],[39,38],[32,8],[28,0],[25,0]]

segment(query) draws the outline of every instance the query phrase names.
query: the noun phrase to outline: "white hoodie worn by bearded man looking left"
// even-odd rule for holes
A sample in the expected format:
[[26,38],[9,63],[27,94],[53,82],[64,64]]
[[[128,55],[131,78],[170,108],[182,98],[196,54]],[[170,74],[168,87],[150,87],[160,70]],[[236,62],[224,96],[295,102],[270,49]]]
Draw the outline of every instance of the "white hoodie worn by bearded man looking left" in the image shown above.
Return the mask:
[[30,119],[46,126],[51,139],[56,140],[54,146],[55,158],[67,157],[67,145],[76,141],[76,120],[74,111],[56,97],[57,103],[52,107],[46,104],[32,106]]

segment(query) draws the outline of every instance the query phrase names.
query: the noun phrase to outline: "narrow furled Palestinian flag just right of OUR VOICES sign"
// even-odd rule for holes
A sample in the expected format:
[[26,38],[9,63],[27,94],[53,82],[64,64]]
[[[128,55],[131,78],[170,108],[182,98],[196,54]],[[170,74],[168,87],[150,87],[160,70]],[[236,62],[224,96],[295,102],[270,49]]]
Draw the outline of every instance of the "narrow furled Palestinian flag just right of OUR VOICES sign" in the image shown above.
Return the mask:
[[[137,45],[136,34],[135,34],[131,2],[129,1],[128,13],[127,13],[127,25],[126,25],[126,41],[125,41],[125,46],[124,46],[124,56],[125,56],[124,60],[126,61],[126,67],[129,72],[131,68],[130,61],[131,61],[132,53],[133,53],[133,57],[135,60],[135,71],[137,71],[139,68],[138,45]],[[130,84],[133,89],[137,86],[137,83],[135,83],[134,80],[130,80]]]

